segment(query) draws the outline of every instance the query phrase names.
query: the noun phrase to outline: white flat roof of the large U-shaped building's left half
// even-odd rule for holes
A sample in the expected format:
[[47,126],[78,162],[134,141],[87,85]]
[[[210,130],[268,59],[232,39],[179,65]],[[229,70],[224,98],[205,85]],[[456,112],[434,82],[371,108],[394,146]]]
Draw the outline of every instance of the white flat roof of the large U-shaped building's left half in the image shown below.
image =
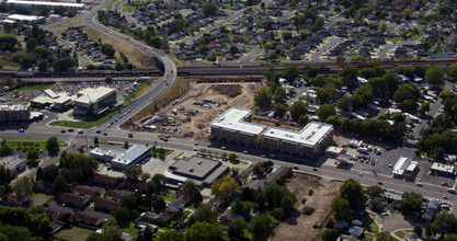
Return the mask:
[[266,128],[266,126],[244,122],[243,119],[250,114],[251,110],[230,107],[219,117],[209,123],[209,127],[240,131],[248,135],[259,135]]

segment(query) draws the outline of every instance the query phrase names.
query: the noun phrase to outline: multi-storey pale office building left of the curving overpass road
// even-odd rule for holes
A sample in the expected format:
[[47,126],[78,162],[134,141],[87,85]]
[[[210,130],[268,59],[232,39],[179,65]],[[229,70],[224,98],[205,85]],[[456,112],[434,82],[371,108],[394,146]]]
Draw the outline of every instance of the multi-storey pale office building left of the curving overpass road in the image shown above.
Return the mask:
[[116,104],[116,90],[112,88],[88,88],[77,95],[73,101],[76,115],[101,115]]

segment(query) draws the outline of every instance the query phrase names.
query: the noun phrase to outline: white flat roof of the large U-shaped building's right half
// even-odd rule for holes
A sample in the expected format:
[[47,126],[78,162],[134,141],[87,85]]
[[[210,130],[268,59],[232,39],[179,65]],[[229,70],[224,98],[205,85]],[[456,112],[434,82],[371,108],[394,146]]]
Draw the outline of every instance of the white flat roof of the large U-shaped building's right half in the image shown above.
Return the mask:
[[281,139],[283,141],[289,141],[300,144],[302,146],[312,147],[324,138],[333,126],[324,123],[310,122],[300,131],[294,131],[289,129],[270,127],[262,136],[271,139]]

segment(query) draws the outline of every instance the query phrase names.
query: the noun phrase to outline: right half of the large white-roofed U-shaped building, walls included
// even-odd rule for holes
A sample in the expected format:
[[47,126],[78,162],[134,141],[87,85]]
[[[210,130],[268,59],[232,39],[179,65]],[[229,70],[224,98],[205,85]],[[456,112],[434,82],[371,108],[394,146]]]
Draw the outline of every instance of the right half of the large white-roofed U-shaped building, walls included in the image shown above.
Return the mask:
[[316,158],[332,142],[333,126],[310,122],[300,131],[270,127],[262,134],[262,148]]

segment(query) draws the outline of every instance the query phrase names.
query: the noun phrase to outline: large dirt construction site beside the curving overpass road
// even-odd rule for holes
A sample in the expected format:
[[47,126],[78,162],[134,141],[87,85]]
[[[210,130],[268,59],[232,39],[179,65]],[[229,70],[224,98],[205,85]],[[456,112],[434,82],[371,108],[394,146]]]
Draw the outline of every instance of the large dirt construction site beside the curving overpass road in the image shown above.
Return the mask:
[[[153,124],[155,133],[180,138],[206,140],[209,137],[208,124],[230,106],[250,108],[254,93],[262,88],[261,82],[197,83],[191,82],[188,91],[178,101],[160,111],[142,117],[136,124],[141,126],[147,119],[159,115],[162,119],[173,118],[173,126],[164,122]],[[180,124],[178,124],[180,123]],[[178,125],[175,125],[178,124]],[[175,128],[175,130],[173,130]],[[151,129],[144,128],[151,131]]]

